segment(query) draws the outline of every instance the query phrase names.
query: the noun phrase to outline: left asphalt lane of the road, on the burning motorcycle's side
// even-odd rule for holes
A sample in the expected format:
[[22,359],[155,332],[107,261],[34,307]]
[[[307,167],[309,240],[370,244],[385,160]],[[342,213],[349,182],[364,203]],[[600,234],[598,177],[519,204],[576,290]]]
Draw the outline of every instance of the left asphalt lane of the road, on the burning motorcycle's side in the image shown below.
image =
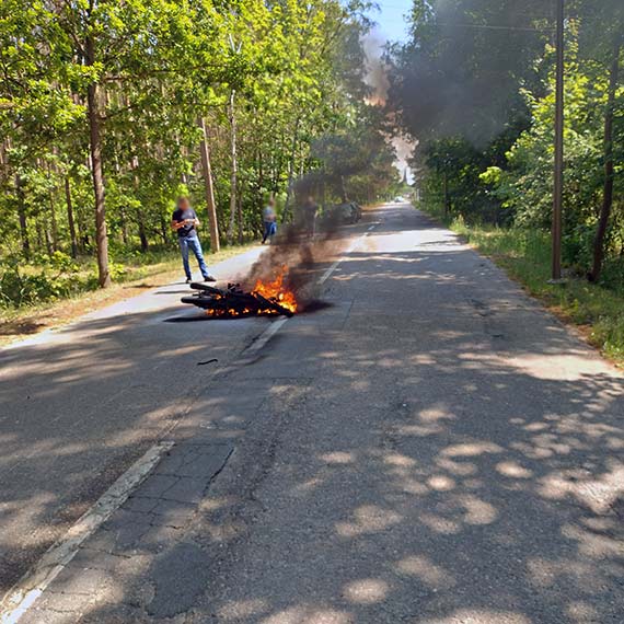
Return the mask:
[[166,285],[0,349],[0,594],[166,437],[211,373],[197,362],[227,363],[267,323],[167,322],[197,317],[180,303],[188,292]]

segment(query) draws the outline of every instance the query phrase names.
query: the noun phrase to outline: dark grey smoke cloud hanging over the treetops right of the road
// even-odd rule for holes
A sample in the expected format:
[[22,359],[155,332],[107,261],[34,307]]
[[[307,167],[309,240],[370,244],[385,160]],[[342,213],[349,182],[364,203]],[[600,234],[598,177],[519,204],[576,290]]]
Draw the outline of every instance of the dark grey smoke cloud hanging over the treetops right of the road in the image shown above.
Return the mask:
[[412,39],[394,47],[389,104],[419,140],[463,136],[484,145],[510,111],[523,109],[519,82],[548,39],[539,0],[416,0]]

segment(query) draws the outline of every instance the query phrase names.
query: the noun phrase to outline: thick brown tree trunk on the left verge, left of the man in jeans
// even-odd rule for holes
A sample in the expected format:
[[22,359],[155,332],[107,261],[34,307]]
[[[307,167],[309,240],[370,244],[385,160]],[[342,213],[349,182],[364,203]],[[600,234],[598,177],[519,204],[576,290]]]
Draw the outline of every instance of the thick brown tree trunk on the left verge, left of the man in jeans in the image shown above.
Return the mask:
[[[86,38],[86,65],[95,63],[95,42]],[[108,234],[106,232],[106,206],[104,203],[104,172],[102,166],[102,137],[99,102],[99,85],[92,82],[86,93],[89,115],[89,138],[91,151],[91,173],[93,176],[93,195],[95,197],[95,242],[97,250],[97,282],[101,288],[112,284],[108,270]]]

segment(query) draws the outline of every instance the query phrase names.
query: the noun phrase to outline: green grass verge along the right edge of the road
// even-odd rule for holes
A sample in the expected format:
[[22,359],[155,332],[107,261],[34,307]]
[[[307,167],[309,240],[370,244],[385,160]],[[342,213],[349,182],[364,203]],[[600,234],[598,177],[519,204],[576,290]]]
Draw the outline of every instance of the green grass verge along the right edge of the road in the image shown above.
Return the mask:
[[551,240],[546,232],[467,226],[462,220],[453,221],[450,228],[563,321],[578,326],[605,357],[624,366],[623,287],[608,289],[574,276],[564,285],[550,285]]

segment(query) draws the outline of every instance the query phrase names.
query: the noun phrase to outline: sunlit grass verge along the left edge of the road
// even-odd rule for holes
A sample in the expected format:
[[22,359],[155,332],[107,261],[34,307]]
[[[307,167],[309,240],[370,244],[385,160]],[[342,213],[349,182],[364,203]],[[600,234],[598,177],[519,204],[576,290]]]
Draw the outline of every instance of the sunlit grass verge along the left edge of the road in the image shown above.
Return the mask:
[[[257,243],[222,247],[215,254],[206,254],[208,266],[255,247]],[[122,262],[119,262],[122,261]],[[180,254],[174,250],[154,251],[148,255],[128,255],[116,258],[118,271],[111,288],[92,288],[86,276],[93,271],[93,261],[81,266],[79,275],[85,277],[84,290],[69,297],[35,302],[27,305],[0,308],[0,345],[37,334],[44,330],[70,323],[77,317],[140,293],[183,278]]]

